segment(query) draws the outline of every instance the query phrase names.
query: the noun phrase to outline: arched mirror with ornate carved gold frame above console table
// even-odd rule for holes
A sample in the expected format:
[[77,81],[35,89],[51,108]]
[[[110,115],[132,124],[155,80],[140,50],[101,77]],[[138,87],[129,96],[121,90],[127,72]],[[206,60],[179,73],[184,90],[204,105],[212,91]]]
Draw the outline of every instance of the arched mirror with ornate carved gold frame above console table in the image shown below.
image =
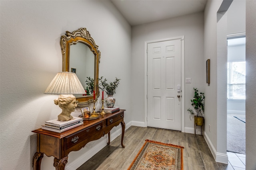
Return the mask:
[[[86,28],[79,28],[73,32],[66,31],[60,37],[62,51],[62,71],[76,72],[80,82],[86,89],[87,77],[94,78],[95,96],[99,96],[98,77],[100,51]],[[78,106],[88,106],[93,101],[92,95],[76,95]]]

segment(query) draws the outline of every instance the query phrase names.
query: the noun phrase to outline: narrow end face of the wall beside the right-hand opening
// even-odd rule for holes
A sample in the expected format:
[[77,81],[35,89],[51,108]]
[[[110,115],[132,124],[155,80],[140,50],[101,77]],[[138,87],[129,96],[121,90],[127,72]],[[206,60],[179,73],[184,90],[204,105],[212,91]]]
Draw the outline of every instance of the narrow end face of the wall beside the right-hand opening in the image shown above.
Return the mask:
[[[227,8],[228,10],[228,8]],[[217,147],[216,161],[228,163],[227,150],[227,14],[226,12],[217,13]],[[206,123],[206,127],[208,124]],[[208,129],[208,128],[206,128]],[[210,131],[209,131],[210,132]]]

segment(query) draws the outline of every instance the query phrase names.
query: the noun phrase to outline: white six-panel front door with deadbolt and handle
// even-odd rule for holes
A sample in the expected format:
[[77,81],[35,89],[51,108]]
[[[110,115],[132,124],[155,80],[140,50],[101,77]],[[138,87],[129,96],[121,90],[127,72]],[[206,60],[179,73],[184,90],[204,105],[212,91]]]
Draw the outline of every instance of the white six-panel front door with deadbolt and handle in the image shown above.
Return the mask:
[[181,131],[181,41],[148,43],[148,127]]

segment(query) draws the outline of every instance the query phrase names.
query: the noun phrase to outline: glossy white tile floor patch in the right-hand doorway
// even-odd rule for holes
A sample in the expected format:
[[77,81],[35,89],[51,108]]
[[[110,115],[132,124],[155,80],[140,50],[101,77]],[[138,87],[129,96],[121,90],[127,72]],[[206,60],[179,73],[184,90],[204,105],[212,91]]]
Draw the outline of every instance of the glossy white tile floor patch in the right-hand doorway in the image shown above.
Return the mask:
[[[245,170],[245,154],[227,152],[228,168],[226,170]],[[231,166],[229,166],[231,165]]]

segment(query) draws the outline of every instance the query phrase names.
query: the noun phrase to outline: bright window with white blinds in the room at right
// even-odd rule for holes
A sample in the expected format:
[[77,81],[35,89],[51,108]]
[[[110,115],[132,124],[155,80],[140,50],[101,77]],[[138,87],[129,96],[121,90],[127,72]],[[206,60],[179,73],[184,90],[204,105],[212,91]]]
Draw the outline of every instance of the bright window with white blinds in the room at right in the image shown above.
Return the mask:
[[245,99],[245,61],[228,62],[228,99]]

